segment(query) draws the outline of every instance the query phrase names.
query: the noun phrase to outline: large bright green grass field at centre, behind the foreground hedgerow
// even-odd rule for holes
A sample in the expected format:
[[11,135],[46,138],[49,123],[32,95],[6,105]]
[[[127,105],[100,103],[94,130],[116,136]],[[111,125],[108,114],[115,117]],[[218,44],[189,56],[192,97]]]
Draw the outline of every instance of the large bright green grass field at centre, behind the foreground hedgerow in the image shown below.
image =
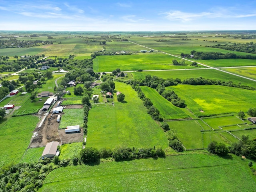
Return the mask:
[[147,114],[138,94],[129,85],[115,82],[125,95],[124,102],[95,105],[88,115],[86,146],[96,148],[168,147],[168,140],[160,126]]

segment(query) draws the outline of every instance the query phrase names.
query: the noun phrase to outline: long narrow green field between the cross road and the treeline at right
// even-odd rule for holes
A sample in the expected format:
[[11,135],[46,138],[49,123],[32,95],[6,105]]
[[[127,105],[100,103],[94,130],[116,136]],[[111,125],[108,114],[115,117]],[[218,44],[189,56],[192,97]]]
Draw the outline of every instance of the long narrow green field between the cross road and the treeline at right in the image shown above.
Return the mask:
[[160,78],[180,78],[181,80],[187,78],[209,78],[213,80],[232,81],[234,84],[241,83],[242,85],[256,87],[256,82],[247,80],[238,76],[227,74],[214,69],[200,69],[200,70],[170,70],[170,71],[143,71],[132,72],[135,79],[144,79],[146,75],[158,76]]

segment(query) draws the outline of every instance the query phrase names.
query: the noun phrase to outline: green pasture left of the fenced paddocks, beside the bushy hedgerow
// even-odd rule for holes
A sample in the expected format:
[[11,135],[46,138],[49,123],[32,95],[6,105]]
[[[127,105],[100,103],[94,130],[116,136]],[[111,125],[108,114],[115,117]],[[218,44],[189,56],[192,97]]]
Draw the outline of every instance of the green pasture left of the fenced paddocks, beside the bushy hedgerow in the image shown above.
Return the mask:
[[177,131],[178,139],[186,149],[202,148],[202,128],[196,120],[169,121],[170,129]]

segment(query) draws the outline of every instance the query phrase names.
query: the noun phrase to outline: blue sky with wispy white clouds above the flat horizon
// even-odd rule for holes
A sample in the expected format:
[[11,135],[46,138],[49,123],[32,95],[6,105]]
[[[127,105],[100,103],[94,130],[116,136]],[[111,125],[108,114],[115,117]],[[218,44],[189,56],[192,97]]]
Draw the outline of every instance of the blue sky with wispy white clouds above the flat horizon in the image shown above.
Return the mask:
[[256,30],[256,0],[0,0],[0,30]]

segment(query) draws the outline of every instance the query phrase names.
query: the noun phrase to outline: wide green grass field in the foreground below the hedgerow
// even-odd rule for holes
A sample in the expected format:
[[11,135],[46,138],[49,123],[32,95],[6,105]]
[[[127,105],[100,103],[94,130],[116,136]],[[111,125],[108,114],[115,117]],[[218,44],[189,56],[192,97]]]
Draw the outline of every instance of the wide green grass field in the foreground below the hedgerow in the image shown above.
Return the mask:
[[[58,168],[39,192],[62,191],[254,191],[248,166],[239,158],[208,154],[101,162]],[[241,179],[243,178],[243,179]]]

